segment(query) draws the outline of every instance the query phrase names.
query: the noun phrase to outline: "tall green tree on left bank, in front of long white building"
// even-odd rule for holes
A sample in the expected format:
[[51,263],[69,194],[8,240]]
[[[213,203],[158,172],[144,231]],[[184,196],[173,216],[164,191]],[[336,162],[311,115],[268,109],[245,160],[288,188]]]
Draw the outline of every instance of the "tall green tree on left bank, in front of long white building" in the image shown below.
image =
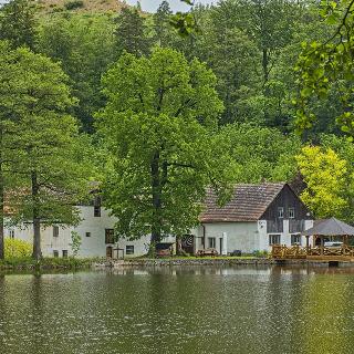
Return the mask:
[[22,48],[8,51],[6,62],[8,56],[14,60],[1,77],[7,84],[1,118],[8,114],[15,132],[11,175],[21,179],[21,188],[10,194],[12,221],[32,220],[33,258],[39,259],[42,225],[79,220],[73,206],[85,191],[85,149],[76,119],[67,114],[75,101],[60,65]]

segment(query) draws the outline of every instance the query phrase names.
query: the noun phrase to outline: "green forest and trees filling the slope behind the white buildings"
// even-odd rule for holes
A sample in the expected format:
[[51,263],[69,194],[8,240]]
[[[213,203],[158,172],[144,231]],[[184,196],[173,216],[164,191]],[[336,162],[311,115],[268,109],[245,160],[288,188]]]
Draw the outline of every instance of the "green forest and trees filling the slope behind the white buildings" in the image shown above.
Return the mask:
[[354,221],[352,2],[85,6],[0,8],[0,258],[23,220],[40,258],[41,227],[79,222],[97,183],[131,239],[183,235],[206,188],[222,204],[238,183]]

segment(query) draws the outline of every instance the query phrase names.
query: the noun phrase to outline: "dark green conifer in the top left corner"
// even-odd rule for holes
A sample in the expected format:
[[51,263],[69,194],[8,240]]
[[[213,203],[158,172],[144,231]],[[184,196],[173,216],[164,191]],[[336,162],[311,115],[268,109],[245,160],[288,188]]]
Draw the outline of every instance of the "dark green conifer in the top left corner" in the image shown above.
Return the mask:
[[13,48],[35,45],[35,4],[32,0],[11,0],[0,8],[0,40],[8,40]]

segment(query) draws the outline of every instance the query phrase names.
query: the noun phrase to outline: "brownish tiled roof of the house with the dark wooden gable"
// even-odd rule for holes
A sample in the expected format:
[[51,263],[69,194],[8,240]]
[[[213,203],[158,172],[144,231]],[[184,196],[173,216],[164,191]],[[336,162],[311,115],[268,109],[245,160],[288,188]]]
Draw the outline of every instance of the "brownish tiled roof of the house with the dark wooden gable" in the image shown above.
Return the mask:
[[205,201],[201,222],[257,221],[274,200],[285,184],[237,185],[231,200],[223,207],[210,189]]

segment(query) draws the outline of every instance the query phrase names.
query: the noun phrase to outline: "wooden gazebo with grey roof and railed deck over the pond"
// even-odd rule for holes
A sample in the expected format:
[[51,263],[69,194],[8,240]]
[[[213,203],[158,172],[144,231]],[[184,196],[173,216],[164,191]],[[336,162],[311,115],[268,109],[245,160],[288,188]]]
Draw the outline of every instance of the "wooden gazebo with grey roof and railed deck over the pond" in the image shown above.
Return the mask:
[[[300,246],[274,246],[272,258],[305,258],[312,260],[354,261],[354,247],[350,246],[350,237],[354,236],[354,227],[336,219],[321,220],[313,228],[302,232],[306,238],[305,248]],[[312,237],[312,244],[310,244]],[[325,241],[339,241],[337,244],[325,246]]]

